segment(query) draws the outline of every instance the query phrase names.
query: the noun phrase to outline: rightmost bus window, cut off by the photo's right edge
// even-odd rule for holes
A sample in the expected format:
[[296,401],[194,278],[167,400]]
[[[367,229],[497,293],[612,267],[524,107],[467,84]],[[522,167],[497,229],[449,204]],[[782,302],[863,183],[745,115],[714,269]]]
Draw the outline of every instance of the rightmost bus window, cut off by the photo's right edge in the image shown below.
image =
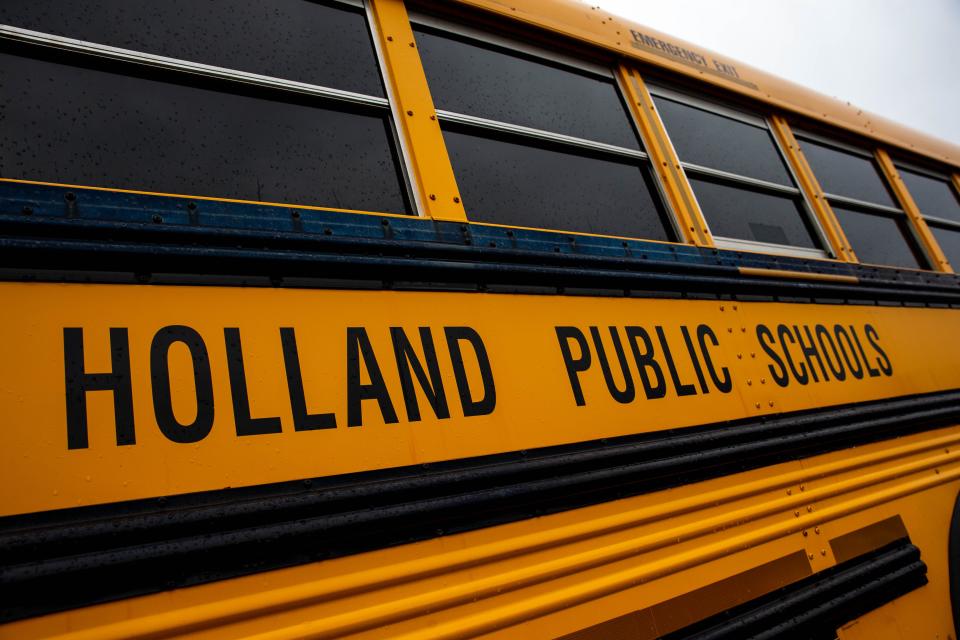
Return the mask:
[[899,164],[897,171],[947,259],[960,266],[960,198],[950,179]]

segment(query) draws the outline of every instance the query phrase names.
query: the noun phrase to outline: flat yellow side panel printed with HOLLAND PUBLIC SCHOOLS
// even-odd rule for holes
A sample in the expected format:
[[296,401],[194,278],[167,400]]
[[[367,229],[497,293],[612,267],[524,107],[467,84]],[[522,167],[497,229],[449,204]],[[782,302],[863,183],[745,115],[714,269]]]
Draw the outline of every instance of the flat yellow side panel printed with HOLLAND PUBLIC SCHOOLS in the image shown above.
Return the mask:
[[[0,462],[20,484],[3,515],[960,388],[951,309],[16,283],[0,298],[17,310],[0,318]],[[435,353],[449,417],[415,380],[405,395],[397,332],[425,370]],[[632,398],[598,344],[617,391],[622,349]],[[124,431],[115,392],[80,385],[127,362]],[[291,370],[335,428],[295,428]]]

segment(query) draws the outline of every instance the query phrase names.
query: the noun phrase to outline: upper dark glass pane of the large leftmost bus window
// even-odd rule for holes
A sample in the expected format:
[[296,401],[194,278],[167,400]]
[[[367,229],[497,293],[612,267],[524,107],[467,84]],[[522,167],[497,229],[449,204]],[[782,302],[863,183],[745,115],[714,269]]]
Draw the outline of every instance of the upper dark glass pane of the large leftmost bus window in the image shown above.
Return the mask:
[[383,96],[359,9],[306,0],[3,0],[0,23]]

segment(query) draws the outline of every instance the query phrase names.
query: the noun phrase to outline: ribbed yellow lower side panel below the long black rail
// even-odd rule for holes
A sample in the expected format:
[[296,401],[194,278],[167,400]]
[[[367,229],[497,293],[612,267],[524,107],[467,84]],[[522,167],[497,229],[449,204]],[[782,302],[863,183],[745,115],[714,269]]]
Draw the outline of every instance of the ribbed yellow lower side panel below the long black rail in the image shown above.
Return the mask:
[[873,624],[884,619],[881,609],[844,633],[946,638],[952,632],[946,534],[960,489],[958,447],[960,428],[951,427],[523,522],[25,620],[0,628],[0,635],[555,638],[631,612],[656,612],[660,603],[798,551],[821,571],[834,564],[831,540],[899,517],[927,563],[929,584],[888,605],[897,610],[894,627]]

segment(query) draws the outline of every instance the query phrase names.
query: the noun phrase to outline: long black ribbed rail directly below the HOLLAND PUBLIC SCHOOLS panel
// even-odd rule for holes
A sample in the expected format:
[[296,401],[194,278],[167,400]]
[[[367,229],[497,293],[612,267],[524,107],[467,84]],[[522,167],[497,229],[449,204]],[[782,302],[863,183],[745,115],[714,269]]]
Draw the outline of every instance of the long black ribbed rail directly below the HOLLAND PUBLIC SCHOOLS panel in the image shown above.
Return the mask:
[[0,519],[0,620],[522,520],[960,422],[960,391]]

